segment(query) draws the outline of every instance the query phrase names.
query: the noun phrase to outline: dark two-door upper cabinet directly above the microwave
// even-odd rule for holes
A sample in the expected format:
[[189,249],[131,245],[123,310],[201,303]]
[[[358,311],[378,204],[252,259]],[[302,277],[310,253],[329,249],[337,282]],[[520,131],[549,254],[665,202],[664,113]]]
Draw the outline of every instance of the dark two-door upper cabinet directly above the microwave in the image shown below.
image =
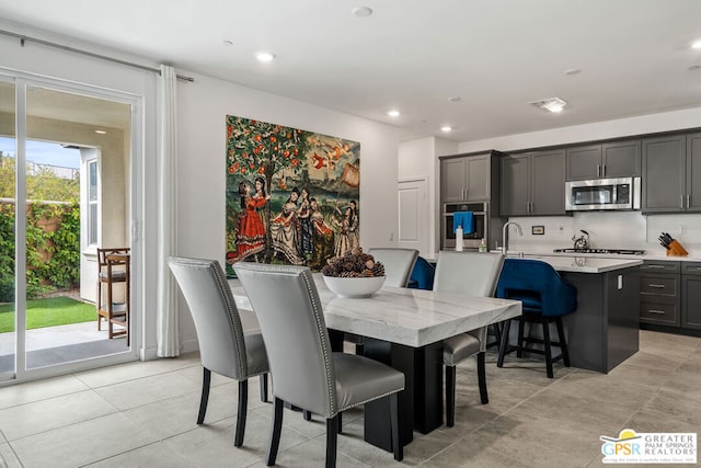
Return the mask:
[[567,148],[566,181],[640,174],[641,141],[637,139]]

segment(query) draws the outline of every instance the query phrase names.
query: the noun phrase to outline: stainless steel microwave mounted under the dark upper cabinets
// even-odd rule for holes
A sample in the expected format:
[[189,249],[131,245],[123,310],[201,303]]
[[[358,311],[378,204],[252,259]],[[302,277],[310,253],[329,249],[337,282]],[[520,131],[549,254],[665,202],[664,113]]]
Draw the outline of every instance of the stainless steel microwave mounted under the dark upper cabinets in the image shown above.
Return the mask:
[[565,209],[640,209],[640,178],[565,182]]

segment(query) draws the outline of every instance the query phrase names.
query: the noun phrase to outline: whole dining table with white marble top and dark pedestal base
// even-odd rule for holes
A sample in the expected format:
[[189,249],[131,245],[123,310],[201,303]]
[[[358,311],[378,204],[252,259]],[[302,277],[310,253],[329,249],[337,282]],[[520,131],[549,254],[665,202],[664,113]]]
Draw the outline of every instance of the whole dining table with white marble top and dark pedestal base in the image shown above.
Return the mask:
[[[365,356],[404,373],[405,388],[398,401],[403,445],[412,442],[414,430],[425,434],[443,425],[443,340],[521,315],[517,300],[402,287],[383,286],[369,297],[341,297],[321,274],[313,277],[332,349],[343,351],[344,333],[361,335]],[[254,320],[246,313],[252,307],[241,283],[232,278],[229,284],[245,320]],[[384,400],[366,403],[364,437],[391,452]]]

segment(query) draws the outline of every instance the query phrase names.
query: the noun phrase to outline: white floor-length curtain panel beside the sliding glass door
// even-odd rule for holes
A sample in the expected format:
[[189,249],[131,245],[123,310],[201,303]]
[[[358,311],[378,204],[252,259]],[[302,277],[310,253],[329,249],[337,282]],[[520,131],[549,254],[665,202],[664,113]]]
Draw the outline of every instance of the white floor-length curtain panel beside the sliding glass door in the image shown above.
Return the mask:
[[180,329],[175,283],[168,267],[168,256],[175,249],[176,193],[176,75],[173,67],[161,65],[159,80],[160,139],[158,151],[158,310],[157,354],[180,355]]

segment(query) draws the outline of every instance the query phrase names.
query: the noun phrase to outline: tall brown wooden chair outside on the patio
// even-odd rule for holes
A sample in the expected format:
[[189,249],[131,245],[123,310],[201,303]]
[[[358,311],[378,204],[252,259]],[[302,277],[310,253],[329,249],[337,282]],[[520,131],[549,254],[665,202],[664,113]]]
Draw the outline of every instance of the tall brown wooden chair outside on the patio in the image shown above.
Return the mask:
[[[105,319],[110,339],[126,335],[127,346],[129,345],[130,260],[129,248],[97,249],[97,330],[101,330],[102,320]],[[122,285],[124,296],[119,296],[123,301],[116,303],[115,286],[118,285]],[[119,329],[115,330],[115,324]]]

